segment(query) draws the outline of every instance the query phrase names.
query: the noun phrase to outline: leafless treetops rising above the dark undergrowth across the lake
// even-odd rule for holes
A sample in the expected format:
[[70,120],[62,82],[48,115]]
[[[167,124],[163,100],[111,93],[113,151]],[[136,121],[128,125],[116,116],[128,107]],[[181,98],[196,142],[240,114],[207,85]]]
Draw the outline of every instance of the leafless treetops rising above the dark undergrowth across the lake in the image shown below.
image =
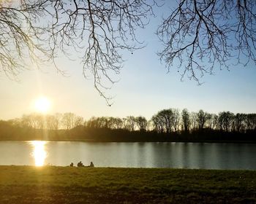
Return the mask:
[[256,114],[234,114],[222,111],[210,114],[200,110],[190,112],[187,109],[162,109],[151,119],[143,116],[91,117],[83,119],[74,113],[24,114],[20,118],[5,121],[7,124],[31,129],[71,130],[75,127],[123,129],[156,133],[192,133],[200,130],[220,130],[222,132],[248,133],[256,131]]

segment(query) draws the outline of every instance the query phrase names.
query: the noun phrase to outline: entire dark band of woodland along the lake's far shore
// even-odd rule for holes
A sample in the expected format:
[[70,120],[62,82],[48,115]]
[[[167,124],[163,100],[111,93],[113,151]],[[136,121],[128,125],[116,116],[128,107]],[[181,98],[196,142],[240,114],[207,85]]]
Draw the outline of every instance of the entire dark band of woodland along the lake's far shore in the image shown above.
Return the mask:
[[163,109],[145,117],[25,114],[0,121],[0,140],[255,142],[256,114]]

